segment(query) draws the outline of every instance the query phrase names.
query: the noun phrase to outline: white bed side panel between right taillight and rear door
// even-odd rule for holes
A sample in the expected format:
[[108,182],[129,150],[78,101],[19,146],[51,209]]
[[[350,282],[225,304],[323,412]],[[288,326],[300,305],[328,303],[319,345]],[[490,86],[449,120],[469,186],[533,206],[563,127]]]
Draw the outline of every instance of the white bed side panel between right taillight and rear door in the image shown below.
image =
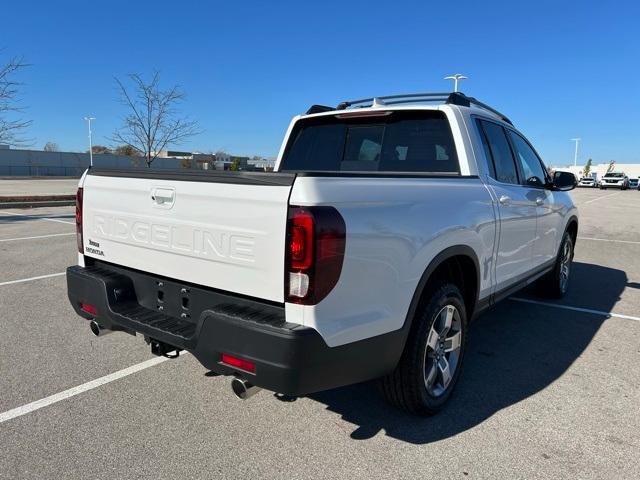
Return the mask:
[[315,306],[286,304],[288,321],[315,328],[329,346],[401,328],[427,266],[454,245],[474,250],[479,296],[490,293],[494,207],[476,177],[299,176],[290,204],[331,205],[346,223],[335,288]]

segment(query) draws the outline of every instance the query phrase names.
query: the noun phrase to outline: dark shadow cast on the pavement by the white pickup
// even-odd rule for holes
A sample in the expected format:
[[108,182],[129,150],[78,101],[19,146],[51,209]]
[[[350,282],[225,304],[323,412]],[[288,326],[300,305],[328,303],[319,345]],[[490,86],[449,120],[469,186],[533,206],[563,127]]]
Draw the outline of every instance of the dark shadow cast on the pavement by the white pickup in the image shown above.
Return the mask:
[[[621,270],[574,263],[570,291],[558,303],[610,312],[625,286]],[[532,289],[517,296],[537,298]],[[411,416],[387,405],[374,382],[309,398],[355,424],[353,439],[365,440],[383,430],[409,443],[435,442],[475,427],[556,381],[605,321],[603,315],[505,300],[472,324],[456,391],[434,417]]]

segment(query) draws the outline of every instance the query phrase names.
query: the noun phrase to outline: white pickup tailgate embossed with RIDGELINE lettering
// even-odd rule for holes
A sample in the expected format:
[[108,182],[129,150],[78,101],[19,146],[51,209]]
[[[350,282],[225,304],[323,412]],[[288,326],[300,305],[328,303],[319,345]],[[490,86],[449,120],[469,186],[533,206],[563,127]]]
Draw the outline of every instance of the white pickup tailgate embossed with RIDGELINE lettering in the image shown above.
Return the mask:
[[284,301],[295,175],[89,170],[84,253],[117,265]]

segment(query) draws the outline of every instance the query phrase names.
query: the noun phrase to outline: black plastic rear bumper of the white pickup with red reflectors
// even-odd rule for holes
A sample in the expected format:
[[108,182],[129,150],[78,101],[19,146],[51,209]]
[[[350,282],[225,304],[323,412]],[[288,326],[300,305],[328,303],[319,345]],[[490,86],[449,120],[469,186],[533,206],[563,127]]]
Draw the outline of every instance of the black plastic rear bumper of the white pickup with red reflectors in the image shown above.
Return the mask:
[[[288,395],[385,375],[395,367],[404,345],[403,332],[397,331],[331,348],[316,330],[287,323],[282,304],[104,263],[69,267],[67,286],[71,305],[87,320],[95,318],[104,328],[140,333],[187,350],[209,370]],[[97,313],[85,312],[81,303]],[[223,364],[222,353],[254,362],[255,373]]]

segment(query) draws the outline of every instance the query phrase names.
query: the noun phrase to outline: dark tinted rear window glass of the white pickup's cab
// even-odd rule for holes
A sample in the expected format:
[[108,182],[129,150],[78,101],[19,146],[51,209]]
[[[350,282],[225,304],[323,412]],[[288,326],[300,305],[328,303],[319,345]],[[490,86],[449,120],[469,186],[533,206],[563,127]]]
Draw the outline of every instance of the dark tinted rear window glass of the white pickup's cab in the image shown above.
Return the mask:
[[455,174],[460,168],[444,113],[394,111],[376,117],[329,115],[298,122],[280,171]]

